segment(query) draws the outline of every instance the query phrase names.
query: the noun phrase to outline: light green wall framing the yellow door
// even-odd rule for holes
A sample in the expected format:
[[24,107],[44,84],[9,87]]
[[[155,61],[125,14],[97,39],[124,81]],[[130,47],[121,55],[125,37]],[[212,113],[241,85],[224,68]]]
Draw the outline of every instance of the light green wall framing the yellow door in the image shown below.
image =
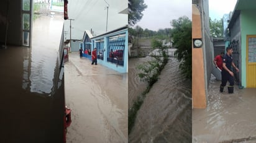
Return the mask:
[[241,16],[241,47],[242,47],[242,85],[246,87],[246,36],[247,35],[256,35],[256,19],[255,19],[255,10],[242,10],[240,12]]

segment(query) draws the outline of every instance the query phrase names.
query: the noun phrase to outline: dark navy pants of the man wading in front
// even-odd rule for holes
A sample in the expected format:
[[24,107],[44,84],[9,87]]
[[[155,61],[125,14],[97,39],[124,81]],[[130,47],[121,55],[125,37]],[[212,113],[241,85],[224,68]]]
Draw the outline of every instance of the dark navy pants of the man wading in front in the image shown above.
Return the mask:
[[227,89],[229,90],[229,93],[233,93],[234,91],[234,77],[229,74],[229,72],[222,71],[221,72],[221,86],[220,86],[220,91],[223,92],[224,87],[227,84],[227,81],[229,81],[229,86]]

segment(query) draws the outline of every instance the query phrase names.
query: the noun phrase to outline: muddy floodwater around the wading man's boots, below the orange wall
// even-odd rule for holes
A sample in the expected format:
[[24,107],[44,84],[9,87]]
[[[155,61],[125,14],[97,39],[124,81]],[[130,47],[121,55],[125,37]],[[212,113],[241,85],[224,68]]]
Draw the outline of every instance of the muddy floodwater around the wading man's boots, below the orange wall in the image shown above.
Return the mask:
[[220,93],[220,84],[212,77],[207,108],[193,109],[193,142],[256,142],[256,89]]

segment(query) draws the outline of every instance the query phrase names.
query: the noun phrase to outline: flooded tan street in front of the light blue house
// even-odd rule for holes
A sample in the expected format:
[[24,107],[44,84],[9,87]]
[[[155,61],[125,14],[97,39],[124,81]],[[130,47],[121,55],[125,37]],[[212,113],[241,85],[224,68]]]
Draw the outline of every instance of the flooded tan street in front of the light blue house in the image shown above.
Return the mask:
[[66,105],[72,110],[67,142],[127,142],[127,94],[127,74],[70,54],[65,63]]

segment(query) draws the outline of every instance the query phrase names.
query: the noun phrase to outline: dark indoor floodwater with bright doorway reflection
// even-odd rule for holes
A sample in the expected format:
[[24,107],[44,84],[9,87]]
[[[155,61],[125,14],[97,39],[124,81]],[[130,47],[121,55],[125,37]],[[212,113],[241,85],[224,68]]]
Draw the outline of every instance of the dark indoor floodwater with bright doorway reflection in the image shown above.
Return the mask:
[[0,50],[0,142],[63,142],[62,19],[35,20],[31,48]]

